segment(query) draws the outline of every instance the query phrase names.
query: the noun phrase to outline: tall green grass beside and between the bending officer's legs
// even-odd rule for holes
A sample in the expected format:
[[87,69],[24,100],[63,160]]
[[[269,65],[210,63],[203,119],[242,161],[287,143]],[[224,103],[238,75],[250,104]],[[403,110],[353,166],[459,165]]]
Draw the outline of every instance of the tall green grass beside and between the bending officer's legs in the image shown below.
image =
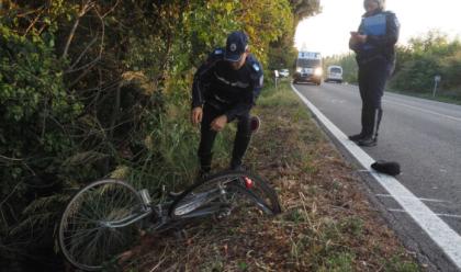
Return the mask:
[[[189,95],[180,89],[165,95],[167,109],[159,116],[151,117],[156,125],[143,140],[146,148],[143,159],[122,174],[136,188],[151,192],[162,186],[183,190],[195,181],[200,167],[196,155],[200,126],[190,122]],[[227,166],[234,134],[233,124],[217,134],[213,146],[214,171]]]

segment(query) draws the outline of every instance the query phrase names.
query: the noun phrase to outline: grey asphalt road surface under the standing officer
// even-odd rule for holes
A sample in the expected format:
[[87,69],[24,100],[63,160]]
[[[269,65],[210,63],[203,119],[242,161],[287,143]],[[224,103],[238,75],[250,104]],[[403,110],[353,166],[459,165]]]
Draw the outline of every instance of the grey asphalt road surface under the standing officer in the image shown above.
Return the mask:
[[[360,132],[361,100],[356,86],[295,84],[346,135]],[[386,92],[378,146],[363,148],[373,159],[398,161],[397,180],[461,235],[461,106]],[[442,271],[456,271],[440,250],[386,192],[371,192]]]

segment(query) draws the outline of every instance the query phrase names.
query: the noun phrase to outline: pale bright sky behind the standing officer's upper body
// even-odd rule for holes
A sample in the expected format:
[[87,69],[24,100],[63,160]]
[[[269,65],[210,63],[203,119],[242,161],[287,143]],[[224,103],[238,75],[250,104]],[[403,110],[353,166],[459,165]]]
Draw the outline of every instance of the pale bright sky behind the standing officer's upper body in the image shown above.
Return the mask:
[[[349,52],[349,32],[357,31],[364,13],[363,0],[321,0],[322,13],[300,22],[295,47],[321,52],[324,56]],[[440,30],[461,38],[461,0],[387,0],[386,10],[401,22],[398,44]]]

